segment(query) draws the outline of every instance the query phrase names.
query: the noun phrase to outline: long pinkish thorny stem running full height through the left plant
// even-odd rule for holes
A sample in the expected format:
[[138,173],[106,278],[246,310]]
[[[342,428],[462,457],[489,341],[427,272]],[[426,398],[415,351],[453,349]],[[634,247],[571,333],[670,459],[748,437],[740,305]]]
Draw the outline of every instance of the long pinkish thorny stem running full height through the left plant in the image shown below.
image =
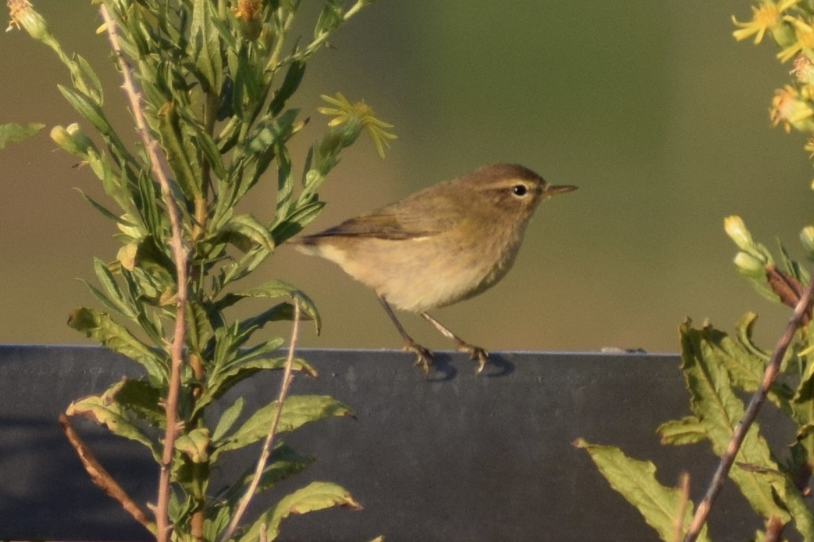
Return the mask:
[[169,180],[159,160],[159,145],[154,138],[151,138],[150,132],[147,129],[147,121],[144,119],[144,111],[142,110],[141,95],[138,94],[136,90],[136,85],[130,75],[129,65],[121,52],[119,38],[116,35],[116,22],[112,19],[110,14],[107,13],[107,8],[104,4],[99,8],[99,11],[106,24],[107,37],[110,39],[113,52],[116,53],[116,58],[119,60],[121,74],[124,78],[122,88],[129,98],[130,109],[133,112],[133,119],[136,122],[136,131],[142,140],[144,150],[147,151],[152,175],[161,186],[161,196],[164,199],[164,205],[167,207],[170,227],[172,229],[172,238],[169,240],[169,246],[173,250],[178,291],[175,302],[175,330],[173,332],[173,342],[170,347],[172,368],[170,371],[167,398],[164,400],[167,429],[164,432],[164,449],[161,454],[158,496],[154,510],[157,529],[156,538],[159,542],[166,542],[166,540],[169,540],[170,530],[172,528],[168,522],[167,510],[169,505],[170,466],[173,462],[173,448],[175,447],[175,439],[178,431],[177,404],[181,388],[181,367],[183,365],[184,334],[186,332],[187,251],[184,247],[182,237],[181,217],[179,216],[172,190],[170,190]]

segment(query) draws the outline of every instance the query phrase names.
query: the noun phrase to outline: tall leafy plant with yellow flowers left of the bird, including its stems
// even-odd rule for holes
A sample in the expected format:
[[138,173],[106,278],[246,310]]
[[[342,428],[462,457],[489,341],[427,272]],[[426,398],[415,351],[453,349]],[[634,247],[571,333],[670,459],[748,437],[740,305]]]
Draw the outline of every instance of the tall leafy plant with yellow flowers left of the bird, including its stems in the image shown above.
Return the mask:
[[[273,540],[289,514],[361,508],[344,488],[312,483],[243,523],[252,496],[309,464],[278,436],[351,411],[331,397],[287,395],[295,371],[317,375],[295,357],[300,320],[313,320],[317,332],[320,326],[309,297],[280,279],[239,282],[322,211],[319,189],[362,131],[380,155],[395,137],[369,106],[344,100],[341,118],[309,147],[300,173],[289,151],[308,125],[288,103],[309,59],[370,0],[347,7],[326,0],[305,46],[290,36],[300,0],[97,3],[138,133],[134,149],[107,119],[90,63],[63,50],[28,0],[8,0],[9,28],[24,29],[68,68],[70,85],[58,88],[82,125],[55,126],[50,136],[98,177],[108,202],[80,194],[116,225],[121,243],[112,260],[94,259],[96,281],[87,282],[105,312],[77,308],[68,324],[142,369],[140,378],[73,401],[62,418],[66,436],[94,483],[157,540]],[[41,128],[2,125],[0,146]],[[276,177],[274,216],[241,211],[268,177]],[[268,306],[231,317],[247,299]],[[287,356],[278,354],[283,339],[260,338],[271,321],[293,322]],[[225,404],[235,385],[269,370],[282,372],[277,400],[253,412],[242,398]],[[71,417],[147,448],[160,466],[155,505],[127,496],[73,431]],[[212,494],[219,461],[264,439],[254,469]]]

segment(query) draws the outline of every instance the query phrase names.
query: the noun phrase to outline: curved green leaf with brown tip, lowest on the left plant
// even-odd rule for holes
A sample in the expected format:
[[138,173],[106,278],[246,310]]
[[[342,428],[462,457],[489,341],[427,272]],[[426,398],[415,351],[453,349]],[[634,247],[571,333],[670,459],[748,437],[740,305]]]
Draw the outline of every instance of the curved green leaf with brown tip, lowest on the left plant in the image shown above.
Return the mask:
[[265,526],[266,540],[274,540],[280,534],[280,522],[291,514],[306,514],[316,510],[344,506],[352,510],[361,510],[361,505],[353,500],[348,490],[329,482],[312,482],[308,486],[284,496],[274,508],[260,514],[252,527],[246,531],[239,542],[253,542],[260,536],[260,529]]

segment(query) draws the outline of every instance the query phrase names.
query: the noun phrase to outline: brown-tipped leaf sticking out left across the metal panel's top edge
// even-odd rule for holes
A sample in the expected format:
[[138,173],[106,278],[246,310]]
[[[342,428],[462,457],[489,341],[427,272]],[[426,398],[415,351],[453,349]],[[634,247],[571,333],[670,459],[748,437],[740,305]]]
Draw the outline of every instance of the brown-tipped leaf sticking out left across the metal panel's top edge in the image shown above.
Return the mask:
[[138,362],[147,370],[147,376],[154,385],[166,382],[168,363],[160,356],[160,352],[147,347],[125,326],[112,321],[107,314],[99,313],[93,308],[77,308],[68,317],[68,326],[97,340],[113,352],[119,352]]

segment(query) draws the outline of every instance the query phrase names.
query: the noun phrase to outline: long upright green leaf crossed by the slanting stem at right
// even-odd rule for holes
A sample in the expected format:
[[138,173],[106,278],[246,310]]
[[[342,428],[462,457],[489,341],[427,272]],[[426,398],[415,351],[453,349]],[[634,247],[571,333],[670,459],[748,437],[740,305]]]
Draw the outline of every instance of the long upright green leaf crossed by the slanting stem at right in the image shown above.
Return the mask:
[[[720,344],[725,335],[710,326],[695,330],[689,321],[681,326],[681,370],[690,393],[690,406],[706,428],[712,450],[720,457],[729,446],[733,431],[743,417],[744,406],[738,399],[722,359]],[[752,424],[735,461],[765,470],[778,470],[766,440],[759,434],[757,423]],[[733,469],[729,478],[740,488],[743,496],[764,518],[777,516],[783,522],[789,514],[780,509],[772,498],[782,484],[767,479],[753,470]]]

